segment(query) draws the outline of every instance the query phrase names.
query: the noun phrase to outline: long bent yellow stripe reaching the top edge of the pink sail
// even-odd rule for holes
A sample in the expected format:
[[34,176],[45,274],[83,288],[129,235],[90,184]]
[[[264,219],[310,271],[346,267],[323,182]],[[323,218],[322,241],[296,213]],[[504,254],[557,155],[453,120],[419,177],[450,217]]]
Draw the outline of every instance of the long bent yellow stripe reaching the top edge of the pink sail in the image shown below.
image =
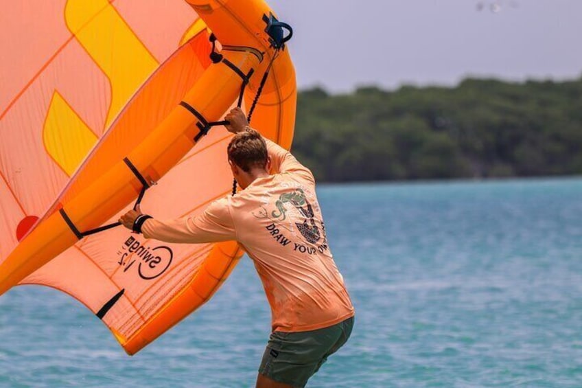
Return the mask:
[[69,0],[65,21],[111,82],[109,126],[158,62],[107,0]]

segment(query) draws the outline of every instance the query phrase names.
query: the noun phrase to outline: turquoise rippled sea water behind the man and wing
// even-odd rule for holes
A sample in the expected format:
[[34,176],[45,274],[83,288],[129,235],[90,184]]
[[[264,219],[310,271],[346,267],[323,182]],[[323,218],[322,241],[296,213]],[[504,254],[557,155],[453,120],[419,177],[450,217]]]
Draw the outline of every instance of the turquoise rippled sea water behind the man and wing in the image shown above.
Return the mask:
[[[309,387],[582,387],[582,179],[322,185],[356,306]],[[270,312],[250,260],[136,356],[77,301],[0,297],[0,387],[254,387]]]

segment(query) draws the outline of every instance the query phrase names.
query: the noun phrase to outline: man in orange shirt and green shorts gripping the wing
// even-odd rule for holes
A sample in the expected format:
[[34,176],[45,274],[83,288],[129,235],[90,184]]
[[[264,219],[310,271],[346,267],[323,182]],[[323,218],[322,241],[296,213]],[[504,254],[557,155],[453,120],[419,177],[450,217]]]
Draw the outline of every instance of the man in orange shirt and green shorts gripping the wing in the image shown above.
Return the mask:
[[255,263],[272,310],[257,387],[304,387],[349,338],[353,306],[327,246],[310,170],[249,128],[241,109],[225,118],[235,134],[229,163],[242,191],[197,217],[160,221],[138,208],[120,221],[165,242],[237,240]]

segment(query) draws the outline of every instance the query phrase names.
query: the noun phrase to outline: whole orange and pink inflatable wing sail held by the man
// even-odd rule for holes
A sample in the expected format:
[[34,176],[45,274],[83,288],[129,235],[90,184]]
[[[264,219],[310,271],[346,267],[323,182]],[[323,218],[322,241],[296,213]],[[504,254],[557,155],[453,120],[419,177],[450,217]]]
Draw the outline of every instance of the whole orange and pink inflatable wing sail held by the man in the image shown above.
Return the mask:
[[0,294],[18,284],[68,293],[135,354],[204,304],[242,250],[146,240],[115,222],[136,201],[174,218],[228,195],[220,119],[232,106],[290,147],[290,28],[262,0],[7,7]]

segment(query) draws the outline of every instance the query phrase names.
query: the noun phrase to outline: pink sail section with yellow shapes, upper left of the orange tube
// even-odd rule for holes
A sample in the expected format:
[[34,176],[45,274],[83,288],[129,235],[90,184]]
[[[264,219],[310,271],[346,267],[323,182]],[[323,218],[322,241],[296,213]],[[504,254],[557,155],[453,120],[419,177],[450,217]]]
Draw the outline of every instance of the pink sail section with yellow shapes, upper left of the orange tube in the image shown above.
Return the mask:
[[0,65],[0,263],[198,19],[182,1],[5,6],[0,50],[12,60]]

